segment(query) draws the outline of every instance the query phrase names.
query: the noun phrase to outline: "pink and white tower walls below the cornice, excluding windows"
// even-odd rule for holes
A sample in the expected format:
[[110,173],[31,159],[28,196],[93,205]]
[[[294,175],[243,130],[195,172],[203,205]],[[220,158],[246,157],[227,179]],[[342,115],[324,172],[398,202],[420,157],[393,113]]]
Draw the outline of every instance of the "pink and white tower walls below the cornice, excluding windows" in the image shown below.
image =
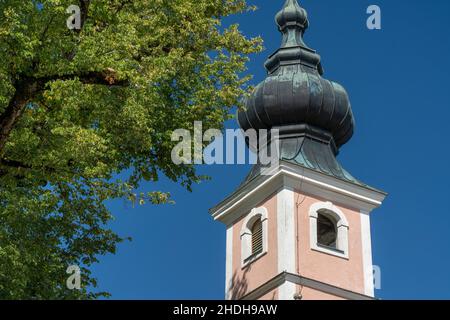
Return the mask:
[[[267,252],[248,264],[243,263],[242,230],[251,210],[230,224],[227,233],[227,298],[241,299],[266,285],[282,272],[325,283],[361,295],[373,296],[368,283],[364,253],[371,252],[362,234],[362,215],[358,209],[333,202],[348,223],[348,257],[335,256],[318,251],[312,246],[311,208],[318,203],[328,203],[325,198],[283,187],[275,194],[255,205],[267,210]],[[289,193],[292,192],[291,196]],[[291,203],[282,204],[282,201]],[[291,223],[291,221],[293,223]],[[284,225],[280,225],[283,223]],[[231,239],[230,239],[231,238]],[[367,237],[366,237],[367,240]],[[370,279],[369,279],[370,281]],[[369,288],[368,288],[369,286]],[[293,299],[297,293],[303,299],[341,299],[321,289],[285,282],[269,292],[262,292],[258,299]]]

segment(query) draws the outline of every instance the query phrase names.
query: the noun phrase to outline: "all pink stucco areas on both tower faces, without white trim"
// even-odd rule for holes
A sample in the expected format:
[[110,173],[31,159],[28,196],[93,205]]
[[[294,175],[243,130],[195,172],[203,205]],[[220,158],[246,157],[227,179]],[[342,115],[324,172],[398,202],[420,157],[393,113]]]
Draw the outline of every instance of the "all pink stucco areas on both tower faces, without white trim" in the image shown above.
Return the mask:
[[[294,216],[296,234],[296,273],[320,282],[324,282],[346,290],[364,294],[364,274],[362,258],[362,239],[360,213],[339,203],[333,203],[346,216],[349,223],[349,259],[314,251],[310,244],[309,209],[316,202],[326,202],[301,192],[294,192]],[[297,206],[298,204],[298,206]],[[268,212],[268,252],[245,268],[242,268],[240,233],[245,218],[240,217],[233,226],[232,270],[233,286],[231,298],[239,299],[254,289],[265,284],[278,275],[278,241],[277,241],[277,195],[255,205],[265,207]],[[304,299],[341,299],[311,288],[302,288]],[[261,297],[261,300],[278,298],[278,291],[273,290]]]

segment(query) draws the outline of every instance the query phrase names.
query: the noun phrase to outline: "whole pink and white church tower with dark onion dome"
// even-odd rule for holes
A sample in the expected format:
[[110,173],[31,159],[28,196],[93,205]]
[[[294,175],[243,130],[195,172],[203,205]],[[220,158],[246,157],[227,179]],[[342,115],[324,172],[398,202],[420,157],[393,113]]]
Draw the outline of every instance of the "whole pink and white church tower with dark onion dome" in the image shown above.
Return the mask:
[[270,175],[255,165],[211,209],[227,226],[226,298],[373,299],[370,214],[386,193],[336,159],[353,135],[353,113],[345,89],[323,78],[320,56],[303,41],[306,11],[287,0],[276,23],[281,47],[238,122],[278,130],[279,164]]

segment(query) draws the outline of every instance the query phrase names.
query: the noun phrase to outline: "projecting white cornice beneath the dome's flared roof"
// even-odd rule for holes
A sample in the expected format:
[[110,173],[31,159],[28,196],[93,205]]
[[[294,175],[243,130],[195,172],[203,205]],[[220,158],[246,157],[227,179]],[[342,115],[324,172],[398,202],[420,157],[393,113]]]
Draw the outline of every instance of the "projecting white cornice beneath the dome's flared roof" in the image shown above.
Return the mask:
[[386,193],[282,162],[273,175],[260,175],[211,209],[215,220],[230,224],[281,188],[293,188],[357,211],[378,208]]

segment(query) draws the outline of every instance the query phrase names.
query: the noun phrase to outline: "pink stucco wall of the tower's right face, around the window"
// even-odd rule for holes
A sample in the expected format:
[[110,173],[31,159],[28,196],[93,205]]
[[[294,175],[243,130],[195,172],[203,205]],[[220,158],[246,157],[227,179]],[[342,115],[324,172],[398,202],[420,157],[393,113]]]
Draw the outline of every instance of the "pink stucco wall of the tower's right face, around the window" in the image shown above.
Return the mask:
[[[349,259],[347,260],[311,250],[309,208],[316,202],[326,200],[303,195],[296,191],[294,201],[300,203],[296,214],[297,270],[299,274],[343,289],[364,293],[360,213],[333,203],[345,214],[349,223]],[[294,205],[295,207],[296,205]]]

